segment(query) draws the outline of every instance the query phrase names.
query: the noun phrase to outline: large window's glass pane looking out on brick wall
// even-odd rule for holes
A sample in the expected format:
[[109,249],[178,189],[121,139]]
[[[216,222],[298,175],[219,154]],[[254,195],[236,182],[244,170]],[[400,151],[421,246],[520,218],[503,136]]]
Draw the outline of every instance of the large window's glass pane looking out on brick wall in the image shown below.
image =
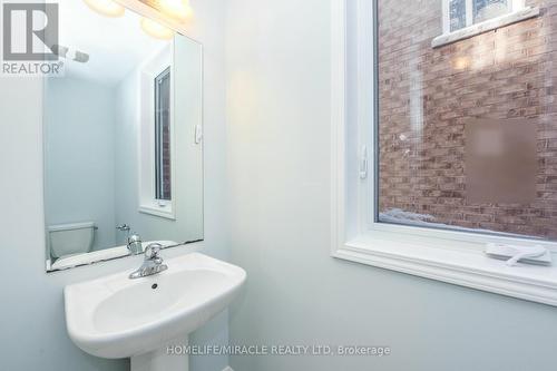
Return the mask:
[[377,221],[557,240],[557,7],[432,48],[439,0],[378,1]]

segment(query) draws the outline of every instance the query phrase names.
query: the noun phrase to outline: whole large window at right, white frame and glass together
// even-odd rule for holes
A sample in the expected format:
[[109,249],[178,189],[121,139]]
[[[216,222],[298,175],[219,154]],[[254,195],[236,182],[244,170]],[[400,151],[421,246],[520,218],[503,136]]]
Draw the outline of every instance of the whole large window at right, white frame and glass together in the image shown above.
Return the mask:
[[483,253],[557,253],[550,22],[431,48],[437,1],[333,2],[332,255],[557,305],[557,266]]

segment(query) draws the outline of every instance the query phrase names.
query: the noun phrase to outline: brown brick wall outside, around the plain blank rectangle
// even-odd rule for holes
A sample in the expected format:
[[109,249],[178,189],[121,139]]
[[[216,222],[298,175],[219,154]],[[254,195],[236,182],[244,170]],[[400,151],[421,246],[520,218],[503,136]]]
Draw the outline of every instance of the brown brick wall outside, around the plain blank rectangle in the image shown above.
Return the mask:
[[[557,238],[557,0],[528,3],[541,16],[433,49],[441,0],[379,0],[380,211]],[[468,204],[467,120],[517,117],[537,127],[536,201]]]

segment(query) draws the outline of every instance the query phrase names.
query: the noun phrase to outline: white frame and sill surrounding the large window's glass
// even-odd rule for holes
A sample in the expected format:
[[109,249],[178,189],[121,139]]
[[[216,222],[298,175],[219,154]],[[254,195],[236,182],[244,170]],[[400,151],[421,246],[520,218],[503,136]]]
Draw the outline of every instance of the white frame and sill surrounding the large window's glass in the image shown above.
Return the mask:
[[[332,0],[331,256],[557,306],[557,263],[508,267],[483,254],[532,240],[375,223],[377,4]],[[536,244],[556,257],[557,243]]]

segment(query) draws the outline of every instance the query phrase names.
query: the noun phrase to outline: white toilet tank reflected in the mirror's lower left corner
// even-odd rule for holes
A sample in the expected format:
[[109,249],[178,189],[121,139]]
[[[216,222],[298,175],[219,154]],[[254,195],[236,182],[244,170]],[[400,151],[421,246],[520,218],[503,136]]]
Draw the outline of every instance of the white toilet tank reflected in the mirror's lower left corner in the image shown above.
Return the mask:
[[51,225],[48,227],[50,254],[52,257],[85,254],[92,250],[95,223]]

